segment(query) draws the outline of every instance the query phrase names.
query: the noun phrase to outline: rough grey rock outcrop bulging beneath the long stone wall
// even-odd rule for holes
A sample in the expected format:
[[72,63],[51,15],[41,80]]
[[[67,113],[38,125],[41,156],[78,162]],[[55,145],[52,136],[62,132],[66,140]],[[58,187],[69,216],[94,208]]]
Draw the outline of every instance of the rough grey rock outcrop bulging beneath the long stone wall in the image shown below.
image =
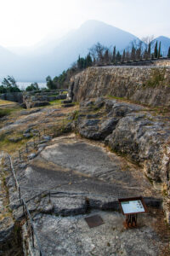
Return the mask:
[[144,107],[102,98],[82,102],[75,116],[73,130],[105,140],[111,150],[143,167],[150,182],[166,195],[169,222],[170,120],[151,115]]

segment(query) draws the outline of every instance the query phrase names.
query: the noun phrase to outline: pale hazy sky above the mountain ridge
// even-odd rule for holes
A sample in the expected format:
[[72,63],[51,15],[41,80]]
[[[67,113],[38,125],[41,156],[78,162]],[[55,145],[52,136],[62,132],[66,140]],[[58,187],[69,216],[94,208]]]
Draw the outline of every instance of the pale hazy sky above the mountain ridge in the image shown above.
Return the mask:
[[0,0],[0,45],[36,44],[86,20],[101,20],[139,38],[170,38],[170,0]]

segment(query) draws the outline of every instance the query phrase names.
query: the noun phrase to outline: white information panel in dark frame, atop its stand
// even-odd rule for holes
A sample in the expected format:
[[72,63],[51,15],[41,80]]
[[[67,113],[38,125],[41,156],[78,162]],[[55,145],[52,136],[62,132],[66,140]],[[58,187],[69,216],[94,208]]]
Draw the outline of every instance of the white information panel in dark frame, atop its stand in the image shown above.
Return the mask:
[[125,215],[147,212],[144,200],[141,196],[119,199],[119,203],[122,213]]

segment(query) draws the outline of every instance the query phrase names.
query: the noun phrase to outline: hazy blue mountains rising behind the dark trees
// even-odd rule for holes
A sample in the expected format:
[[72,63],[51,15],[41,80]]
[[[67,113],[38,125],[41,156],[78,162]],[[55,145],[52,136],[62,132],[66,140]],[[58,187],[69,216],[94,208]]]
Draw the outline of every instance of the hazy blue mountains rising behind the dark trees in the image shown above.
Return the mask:
[[[162,51],[167,50],[167,41],[170,39],[166,41],[164,37],[160,38]],[[13,75],[18,81],[44,81],[48,75],[54,77],[71,67],[78,55],[87,55],[88,49],[98,42],[110,49],[116,45],[116,49],[122,51],[134,39],[138,38],[115,26],[88,20],[62,38],[56,35],[30,48],[11,48],[15,54],[5,49],[1,55],[0,48],[0,79]]]

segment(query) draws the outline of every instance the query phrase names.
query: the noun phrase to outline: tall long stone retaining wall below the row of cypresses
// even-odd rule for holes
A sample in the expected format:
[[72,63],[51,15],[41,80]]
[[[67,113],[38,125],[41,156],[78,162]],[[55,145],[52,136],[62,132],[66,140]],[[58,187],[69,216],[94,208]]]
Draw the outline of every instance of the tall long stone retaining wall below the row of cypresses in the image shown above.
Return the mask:
[[[162,61],[161,61],[162,62]],[[154,81],[154,75],[163,81]],[[97,96],[123,97],[149,106],[170,106],[170,67],[89,67],[71,78],[70,96],[81,102]]]

